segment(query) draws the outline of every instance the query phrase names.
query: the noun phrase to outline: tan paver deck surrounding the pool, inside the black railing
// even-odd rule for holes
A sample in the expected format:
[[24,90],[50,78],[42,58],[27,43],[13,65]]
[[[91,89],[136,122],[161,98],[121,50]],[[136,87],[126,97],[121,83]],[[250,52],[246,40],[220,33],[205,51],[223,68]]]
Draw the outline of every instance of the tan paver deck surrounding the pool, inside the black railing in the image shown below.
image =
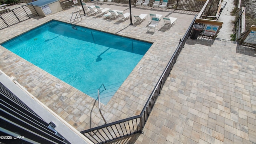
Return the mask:
[[[92,4],[93,2],[88,3],[89,6]],[[123,10],[124,13],[129,12],[127,4],[97,5],[103,8]],[[71,8],[47,17],[37,16],[0,30],[0,43],[50,20],[69,22],[73,11],[74,8]],[[140,114],[146,99],[150,96],[158,78],[178,46],[180,38],[183,37],[192,22],[194,14],[197,14],[197,12],[173,11],[161,8],[152,10],[151,8],[133,7],[133,15],[143,13],[148,14],[148,18],[142,24],[133,24],[132,26],[129,25],[129,19],[126,22],[121,22],[114,18],[109,20],[93,14],[82,16],[83,21],[78,23],[80,26],[153,43],[110,102],[107,105],[102,105],[102,112],[108,123]],[[162,14],[163,17],[172,16],[178,18],[178,20],[170,29],[161,28],[163,23],[163,20],[161,20],[157,32],[147,32],[146,26],[150,20],[150,13]],[[133,17],[132,20],[134,20]],[[0,69],[4,73],[10,77],[14,76],[31,94],[78,131],[104,124],[98,110],[98,102],[90,96],[62,82],[2,46],[0,46],[0,60]],[[24,64],[20,65],[20,62]],[[138,70],[140,66],[143,66],[142,70]],[[63,88],[58,89],[55,84],[60,84]],[[64,93],[68,93],[68,95],[65,96]]]

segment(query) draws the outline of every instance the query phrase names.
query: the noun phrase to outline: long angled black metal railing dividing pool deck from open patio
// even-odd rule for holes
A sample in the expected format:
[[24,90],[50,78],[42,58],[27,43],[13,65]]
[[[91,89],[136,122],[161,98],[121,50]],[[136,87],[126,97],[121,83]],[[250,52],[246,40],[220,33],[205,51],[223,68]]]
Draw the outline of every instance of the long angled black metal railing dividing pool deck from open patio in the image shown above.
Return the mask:
[[183,38],[180,39],[180,43],[178,47],[176,48],[166,68],[164,69],[164,72],[160,76],[154,90],[150,94],[148,101],[146,102],[140,115],[119,120],[116,122],[112,122],[109,124],[104,124],[102,126],[91,128],[89,130],[84,130],[81,132],[82,134],[84,134],[84,136],[86,136],[89,140],[91,140],[95,144],[102,144],[102,143],[110,142],[113,140],[117,140],[119,138],[124,138],[132,134],[143,132],[143,128],[146,125],[148,117],[150,116],[150,113],[154,108],[154,104],[156,103],[156,100],[160,95],[162,87],[164,86],[166,79],[170,75],[170,72],[178,58],[178,55],[180,54],[182,48],[184,47],[186,40],[190,36],[195,19],[196,19],[196,16],[191,22]]

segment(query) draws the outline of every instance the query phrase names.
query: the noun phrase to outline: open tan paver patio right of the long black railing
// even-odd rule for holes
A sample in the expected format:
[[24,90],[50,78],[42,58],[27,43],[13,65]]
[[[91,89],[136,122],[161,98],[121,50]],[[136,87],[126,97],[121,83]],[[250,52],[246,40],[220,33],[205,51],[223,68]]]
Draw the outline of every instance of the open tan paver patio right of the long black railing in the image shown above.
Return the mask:
[[256,58],[188,39],[135,144],[255,144]]

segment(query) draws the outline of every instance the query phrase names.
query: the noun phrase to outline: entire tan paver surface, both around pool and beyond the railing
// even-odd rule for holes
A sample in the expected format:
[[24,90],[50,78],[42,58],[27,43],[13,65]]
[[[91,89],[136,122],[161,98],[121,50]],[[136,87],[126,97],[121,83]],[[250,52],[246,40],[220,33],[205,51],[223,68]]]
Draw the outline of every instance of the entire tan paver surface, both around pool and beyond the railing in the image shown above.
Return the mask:
[[[91,5],[89,3],[88,5]],[[124,10],[128,5],[100,5]],[[152,47],[106,106],[107,122],[140,114],[146,99],[178,46],[194,15],[184,11],[132,8],[133,14],[178,18],[170,30],[148,33],[147,21],[129,26],[99,16],[83,16],[81,26],[153,42]],[[170,10],[171,11],[171,10]],[[55,19],[68,22],[72,10],[37,17],[0,30],[4,42]],[[186,13],[186,14],[185,14]],[[160,22],[160,24],[162,24]],[[123,140],[134,144],[256,143],[256,58],[236,53],[236,44],[188,40],[164,84],[143,134]],[[104,124],[95,100],[0,46],[0,68],[77,130]],[[24,62],[24,65],[20,65]],[[143,66],[142,70],[138,70]],[[64,86],[62,89],[54,85]],[[62,96],[67,92],[67,96]]]

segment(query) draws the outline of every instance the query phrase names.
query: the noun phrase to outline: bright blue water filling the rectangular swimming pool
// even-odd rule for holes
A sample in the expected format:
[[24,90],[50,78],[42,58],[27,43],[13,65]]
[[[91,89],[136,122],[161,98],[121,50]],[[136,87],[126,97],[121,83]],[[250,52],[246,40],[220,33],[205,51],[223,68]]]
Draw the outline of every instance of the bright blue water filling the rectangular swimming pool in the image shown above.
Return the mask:
[[51,21],[1,45],[106,104],[152,44]]

